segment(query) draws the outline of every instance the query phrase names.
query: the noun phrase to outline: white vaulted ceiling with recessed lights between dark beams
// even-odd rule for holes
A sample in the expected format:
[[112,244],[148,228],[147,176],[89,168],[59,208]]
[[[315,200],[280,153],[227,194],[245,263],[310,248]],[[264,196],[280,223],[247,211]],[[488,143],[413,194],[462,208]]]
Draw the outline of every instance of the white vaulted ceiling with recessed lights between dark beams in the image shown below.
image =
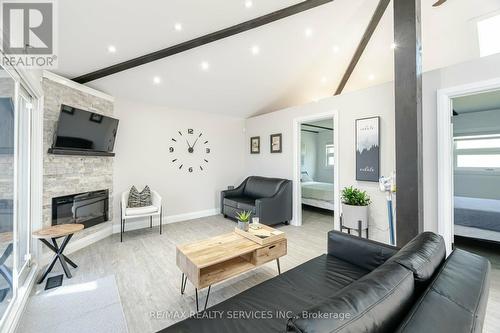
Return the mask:
[[[246,8],[245,0],[61,1],[56,73],[72,78],[298,2],[252,0]],[[424,70],[477,58],[476,22],[500,11],[500,1],[433,2],[422,0]],[[333,94],[377,3],[335,0],[88,85],[117,98],[238,117],[308,103]],[[391,4],[345,91],[392,80],[392,36]],[[108,53],[109,45],[117,52]],[[153,84],[156,76],[160,84]]]

